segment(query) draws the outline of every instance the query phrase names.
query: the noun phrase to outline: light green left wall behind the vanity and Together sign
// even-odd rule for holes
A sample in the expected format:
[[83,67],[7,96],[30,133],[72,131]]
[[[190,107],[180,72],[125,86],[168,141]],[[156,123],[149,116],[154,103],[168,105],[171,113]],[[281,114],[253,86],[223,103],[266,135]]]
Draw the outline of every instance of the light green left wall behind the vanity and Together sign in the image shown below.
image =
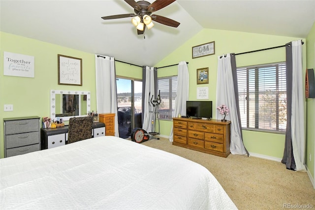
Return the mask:
[[[3,52],[34,56],[35,77],[3,75]],[[58,54],[82,58],[82,86],[58,85]],[[0,157],[3,150],[3,118],[49,116],[50,90],[91,91],[91,110],[96,110],[95,55],[63,46],[0,32]],[[118,75],[142,78],[142,68],[116,62]],[[13,111],[3,111],[3,105]]]

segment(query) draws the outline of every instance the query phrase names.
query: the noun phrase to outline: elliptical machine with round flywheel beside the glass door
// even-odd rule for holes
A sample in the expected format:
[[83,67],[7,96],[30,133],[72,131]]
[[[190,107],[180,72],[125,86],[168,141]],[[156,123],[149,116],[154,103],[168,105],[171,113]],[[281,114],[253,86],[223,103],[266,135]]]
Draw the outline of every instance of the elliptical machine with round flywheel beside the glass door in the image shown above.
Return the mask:
[[131,132],[131,140],[135,141],[137,143],[141,143],[150,139],[156,139],[159,140],[159,138],[155,137],[156,135],[159,135],[159,119],[158,119],[158,132],[155,131],[155,124],[156,124],[156,117],[158,115],[158,105],[161,103],[161,99],[159,96],[158,91],[158,97],[157,99],[153,100],[154,95],[152,95],[150,100],[150,93],[149,93],[149,104],[151,106],[151,110],[149,111],[152,114],[152,120],[151,120],[151,131],[154,132],[146,132],[142,128],[134,128]]

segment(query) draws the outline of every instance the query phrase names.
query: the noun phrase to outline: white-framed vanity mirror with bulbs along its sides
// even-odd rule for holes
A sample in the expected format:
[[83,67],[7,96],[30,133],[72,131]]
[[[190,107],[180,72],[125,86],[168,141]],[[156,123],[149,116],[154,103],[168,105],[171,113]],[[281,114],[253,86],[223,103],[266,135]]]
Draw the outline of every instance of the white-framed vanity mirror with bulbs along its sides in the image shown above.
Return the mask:
[[71,117],[86,116],[91,111],[90,91],[50,91],[50,117],[60,117],[63,121]]

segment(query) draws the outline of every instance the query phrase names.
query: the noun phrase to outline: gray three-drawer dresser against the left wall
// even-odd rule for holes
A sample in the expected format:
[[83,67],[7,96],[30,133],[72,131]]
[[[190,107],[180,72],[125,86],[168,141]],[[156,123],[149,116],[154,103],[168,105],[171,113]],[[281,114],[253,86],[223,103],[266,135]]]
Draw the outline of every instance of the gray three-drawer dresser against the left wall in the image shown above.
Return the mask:
[[40,150],[40,117],[4,118],[4,157]]

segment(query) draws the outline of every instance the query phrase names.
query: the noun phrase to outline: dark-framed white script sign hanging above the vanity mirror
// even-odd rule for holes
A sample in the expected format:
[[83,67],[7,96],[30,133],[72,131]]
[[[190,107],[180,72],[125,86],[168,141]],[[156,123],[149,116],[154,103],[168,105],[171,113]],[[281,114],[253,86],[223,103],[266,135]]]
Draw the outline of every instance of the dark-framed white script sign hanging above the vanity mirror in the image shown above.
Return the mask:
[[82,86],[82,59],[58,54],[58,84]]

